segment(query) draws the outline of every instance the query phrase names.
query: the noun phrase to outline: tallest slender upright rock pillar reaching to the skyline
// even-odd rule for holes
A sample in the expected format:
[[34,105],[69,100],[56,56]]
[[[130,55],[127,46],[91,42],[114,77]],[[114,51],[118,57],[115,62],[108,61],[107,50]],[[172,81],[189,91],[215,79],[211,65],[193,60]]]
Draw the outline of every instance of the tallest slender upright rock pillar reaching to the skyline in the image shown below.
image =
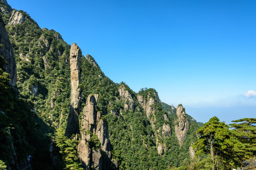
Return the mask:
[[81,84],[81,57],[82,51],[73,43],[70,49],[70,71],[71,71],[71,101],[70,113],[67,122],[65,135],[70,137],[72,134],[79,133],[79,110],[82,102]]

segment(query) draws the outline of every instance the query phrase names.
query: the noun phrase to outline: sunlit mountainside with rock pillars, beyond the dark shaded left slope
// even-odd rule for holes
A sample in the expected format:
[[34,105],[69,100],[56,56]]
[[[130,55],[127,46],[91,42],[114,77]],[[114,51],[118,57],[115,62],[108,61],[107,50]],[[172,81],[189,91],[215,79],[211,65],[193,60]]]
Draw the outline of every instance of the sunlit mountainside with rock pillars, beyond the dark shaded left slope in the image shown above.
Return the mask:
[[[197,127],[189,123],[180,145],[174,131],[176,109],[164,110],[155,89],[145,88],[135,93],[123,82],[114,83],[90,55],[84,58],[78,48],[70,50],[60,34],[41,29],[26,12],[9,8],[5,0],[0,0],[0,5],[16,57],[19,98],[26,101],[31,119],[31,126],[26,127],[29,122],[26,121],[23,127],[27,134],[32,134],[30,138],[35,135],[45,138],[30,141],[33,149],[27,149],[35,155],[34,169],[47,169],[50,164],[59,169],[73,165],[109,169],[111,160],[111,169],[156,170],[190,160],[189,146],[195,140]],[[73,57],[75,62],[80,60],[77,56],[81,57],[81,69],[73,65]],[[79,71],[82,71],[81,82]],[[72,77],[74,85],[70,83]],[[75,120],[68,119],[68,115]],[[40,133],[33,134],[35,130]],[[64,136],[65,130],[70,138]],[[42,150],[33,145],[36,143],[43,152],[38,153]],[[53,155],[54,151],[58,153],[55,144],[63,156],[60,161]],[[18,156],[20,164],[27,154]],[[76,161],[78,158],[82,165]]]

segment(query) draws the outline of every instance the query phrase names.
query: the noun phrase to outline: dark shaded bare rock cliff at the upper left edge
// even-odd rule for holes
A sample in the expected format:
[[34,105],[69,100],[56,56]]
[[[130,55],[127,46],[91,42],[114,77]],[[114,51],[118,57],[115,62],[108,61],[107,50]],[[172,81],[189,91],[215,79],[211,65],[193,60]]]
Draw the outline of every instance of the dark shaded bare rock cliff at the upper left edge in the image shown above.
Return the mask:
[[7,61],[8,64],[4,66],[5,71],[9,74],[9,84],[16,88],[17,82],[17,67],[16,61],[14,57],[14,53],[12,50],[12,46],[9,41],[9,36],[4,27],[4,22],[2,17],[0,16],[0,55]]

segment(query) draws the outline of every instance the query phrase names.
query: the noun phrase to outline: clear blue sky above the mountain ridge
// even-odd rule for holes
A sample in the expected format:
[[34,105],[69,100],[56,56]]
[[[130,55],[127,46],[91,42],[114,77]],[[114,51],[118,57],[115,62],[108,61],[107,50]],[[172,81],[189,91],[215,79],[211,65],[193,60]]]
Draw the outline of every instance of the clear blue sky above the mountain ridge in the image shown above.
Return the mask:
[[114,82],[155,88],[207,122],[256,118],[256,0],[8,0],[91,54]]

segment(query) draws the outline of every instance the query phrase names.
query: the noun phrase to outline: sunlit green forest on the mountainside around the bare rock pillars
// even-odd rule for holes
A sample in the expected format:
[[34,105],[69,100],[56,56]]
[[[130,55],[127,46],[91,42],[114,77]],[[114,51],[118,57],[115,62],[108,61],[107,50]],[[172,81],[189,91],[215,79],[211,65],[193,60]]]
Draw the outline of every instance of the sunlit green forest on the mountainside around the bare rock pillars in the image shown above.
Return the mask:
[[[36,135],[46,136],[41,138],[40,144],[50,143],[50,137],[55,137],[55,145],[60,149],[63,157],[59,167],[68,169],[72,167],[71,165],[80,166],[74,152],[76,142],[64,138],[61,133],[61,129],[66,127],[69,113],[70,46],[54,30],[41,29],[26,12],[18,12],[26,18],[21,24],[8,25],[10,13],[3,14],[3,18],[17,61],[20,99],[26,102],[24,107],[28,109],[29,114],[32,114],[33,118],[38,118],[33,120],[39,133]],[[188,147],[191,145],[191,140],[194,140],[189,134],[195,134],[197,127],[191,126],[193,129],[190,129],[183,147],[180,148],[174,135],[174,119],[158,102],[155,89],[142,89],[137,94],[123,82],[114,83],[102,73],[90,55],[82,58],[81,68],[80,86],[83,93],[81,110],[89,94],[99,94],[97,110],[101,112],[102,119],[108,122],[111,153],[113,159],[118,162],[119,169],[149,169],[149,167],[165,169],[170,164],[175,167],[183,164],[184,159],[189,161]],[[125,86],[132,96],[135,110],[124,109],[125,101],[119,96],[121,86]],[[145,110],[138,103],[137,95],[143,95],[146,100],[152,98],[156,101],[152,106],[155,112],[150,115],[150,119],[155,119],[155,127],[152,127],[151,120],[146,117]],[[165,120],[164,115],[168,120]],[[164,124],[169,124],[172,135],[162,136]],[[157,153],[158,144],[165,146],[162,155]],[[48,147],[41,145],[41,148],[45,149],[41,152],[44,154],[42,157],[49,159]],[[34,160],[37,160],[36,152],[33,152]],[[40,163],[37,162],[37,165]],[[47,165],[49,163],[37,169],[44,169]]]

